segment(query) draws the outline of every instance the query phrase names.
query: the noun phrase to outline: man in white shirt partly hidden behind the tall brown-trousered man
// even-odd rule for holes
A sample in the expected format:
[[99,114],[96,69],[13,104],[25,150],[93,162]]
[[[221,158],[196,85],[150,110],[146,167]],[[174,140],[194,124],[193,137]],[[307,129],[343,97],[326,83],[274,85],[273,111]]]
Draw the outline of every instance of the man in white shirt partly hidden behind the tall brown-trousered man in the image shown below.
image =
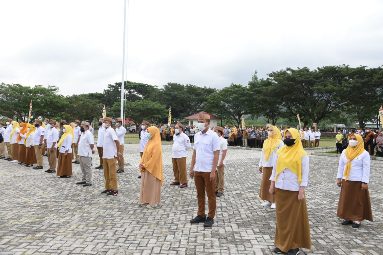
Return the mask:
[[[214,127],[214,132],[218,134],[219,137],[219,159],[217,165],[217,178],[215,183],[216,196],[220,197],[223,195],[223,186],[224,186],[224,168],[226,164],[226,152],[228,151],[228,141],[223,138],[224,129],[223,127]],[[244,132],[247,132],[246,130]]]

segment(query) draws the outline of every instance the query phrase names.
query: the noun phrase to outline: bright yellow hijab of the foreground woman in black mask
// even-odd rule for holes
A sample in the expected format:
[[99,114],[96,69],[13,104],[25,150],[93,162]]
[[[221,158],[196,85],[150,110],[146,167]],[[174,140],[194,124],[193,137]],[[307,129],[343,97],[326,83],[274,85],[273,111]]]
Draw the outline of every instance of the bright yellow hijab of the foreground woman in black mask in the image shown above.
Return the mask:
[[[277,161],[277,173],[275,174],[275,181],[277,176],[285,168],[288,168],[291,172],[298,176],[298,184],[302,182],[302,157],[307,155],[302,147],[300,132],[295,128],[289,128],[290,134],[295,139],[295,144],[292,146],[285,145],[284,147],[277,150],[278,161]],[[286,131],[283,136],[285,139]],[[267,141],[267,140],[266,140]]]

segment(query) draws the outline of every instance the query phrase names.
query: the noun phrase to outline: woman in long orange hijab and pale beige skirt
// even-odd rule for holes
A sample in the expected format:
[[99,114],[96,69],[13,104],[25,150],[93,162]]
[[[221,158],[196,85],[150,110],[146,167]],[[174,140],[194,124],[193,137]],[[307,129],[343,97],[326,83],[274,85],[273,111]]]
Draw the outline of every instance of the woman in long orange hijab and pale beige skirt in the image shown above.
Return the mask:
[[162,173],[162,145],[160,130],[151,126],[147,129],[147,142],[140,162],[141,190],[138,203],[146,208],[153,208],[161,202],[161,186],[164,181]]

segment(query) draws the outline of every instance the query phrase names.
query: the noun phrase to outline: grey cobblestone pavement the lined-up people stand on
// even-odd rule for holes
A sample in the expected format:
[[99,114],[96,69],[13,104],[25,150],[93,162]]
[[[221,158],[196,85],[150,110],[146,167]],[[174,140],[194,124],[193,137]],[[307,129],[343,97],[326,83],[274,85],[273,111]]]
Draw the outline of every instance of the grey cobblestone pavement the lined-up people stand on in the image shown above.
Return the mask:
[[[0,254],[273,254],[275,211],[260,206],[259,151],[230,149],[225,191],[217,201],[215,224],[191,225],[197,199],[173,181],[172,145],[163,145],[164,186],[157,208],[139,204],[139,144],[125,145],[125,173],[118,174],[119,196],[101,195],[103,171],[94,169],[93,186],[75,185],[44,169],[0,160]],[[192,150],[188,152],[190,166]],[[371,162],[370,190],[374,222],[360,229],[342,226],[336,217],[340,188],[338,159],[309,155],[306,189],[312,249],[301,254],[382,254],[383,178],[381,162]],[[93,167],[98,165],[97,152]]]

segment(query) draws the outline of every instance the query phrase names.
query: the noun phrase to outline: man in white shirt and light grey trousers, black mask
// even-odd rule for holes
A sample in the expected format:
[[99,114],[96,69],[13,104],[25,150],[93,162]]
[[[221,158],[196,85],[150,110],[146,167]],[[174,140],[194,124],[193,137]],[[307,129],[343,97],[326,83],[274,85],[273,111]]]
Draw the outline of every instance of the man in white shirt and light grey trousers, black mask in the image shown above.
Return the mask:
[[84,187],[92,185],[92,154],[95,153],[94,136],[89,130],[90,124],[83,121],[80,126],[82,135],[79,142],[80,168],[82,172],[82,180],[76,184]]

